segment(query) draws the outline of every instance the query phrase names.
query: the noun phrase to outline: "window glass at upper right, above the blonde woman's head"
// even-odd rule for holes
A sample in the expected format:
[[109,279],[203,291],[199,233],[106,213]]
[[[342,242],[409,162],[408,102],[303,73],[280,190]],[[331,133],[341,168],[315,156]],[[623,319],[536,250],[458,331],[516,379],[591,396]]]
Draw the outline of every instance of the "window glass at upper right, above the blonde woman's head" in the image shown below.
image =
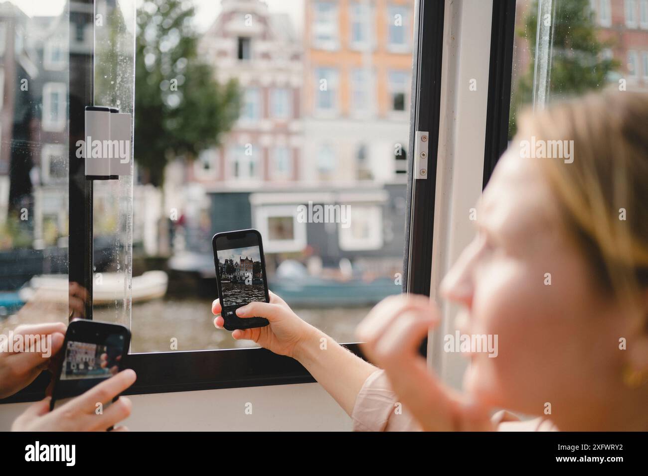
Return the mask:
[[603,87],[648,91],[640,56],[648,51],[648,31],[636,29],[641,3],[516,2],[509,138],[518,112],[527,106],[543,107]]

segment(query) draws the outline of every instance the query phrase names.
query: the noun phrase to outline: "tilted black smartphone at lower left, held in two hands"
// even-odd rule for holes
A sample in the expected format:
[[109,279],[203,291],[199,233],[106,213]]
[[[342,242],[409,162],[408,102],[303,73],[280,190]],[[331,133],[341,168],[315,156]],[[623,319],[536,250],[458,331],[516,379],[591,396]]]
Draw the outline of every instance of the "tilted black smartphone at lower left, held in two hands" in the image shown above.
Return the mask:
[[120,372],[129,347],[130,331],[121,324],[72,321],[65,333],[50,410]]

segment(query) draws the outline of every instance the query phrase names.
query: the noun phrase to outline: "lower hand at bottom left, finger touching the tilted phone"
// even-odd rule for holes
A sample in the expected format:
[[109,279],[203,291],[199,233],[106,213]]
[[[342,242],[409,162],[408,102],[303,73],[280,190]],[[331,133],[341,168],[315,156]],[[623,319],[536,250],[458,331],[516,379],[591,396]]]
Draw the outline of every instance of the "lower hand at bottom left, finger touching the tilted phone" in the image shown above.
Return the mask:
[[[106,431],[130,415],[132,404],[126,397],[115,396],[128,389],[135,382],[135,372],[123,370],[114,377],[93,387],[86,393],[49,411],[51,397],[34,403],[21,414],[12,425],[12,431]],[[104,411],[97,414],[97,403]],[[126,431],[117,427],[114,431]]]

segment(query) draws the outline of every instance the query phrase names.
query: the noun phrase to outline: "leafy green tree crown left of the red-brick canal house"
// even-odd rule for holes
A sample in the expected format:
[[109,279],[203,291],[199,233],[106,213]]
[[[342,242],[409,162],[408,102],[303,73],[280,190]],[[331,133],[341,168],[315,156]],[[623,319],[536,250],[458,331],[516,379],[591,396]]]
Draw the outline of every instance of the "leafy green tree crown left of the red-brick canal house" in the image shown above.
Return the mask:
[[193,16],[181,0],[145,0],[137,11],[135,161],[153,185],[169,161],[217,146],[240,112],[237,82],[219,84],[198,58]]

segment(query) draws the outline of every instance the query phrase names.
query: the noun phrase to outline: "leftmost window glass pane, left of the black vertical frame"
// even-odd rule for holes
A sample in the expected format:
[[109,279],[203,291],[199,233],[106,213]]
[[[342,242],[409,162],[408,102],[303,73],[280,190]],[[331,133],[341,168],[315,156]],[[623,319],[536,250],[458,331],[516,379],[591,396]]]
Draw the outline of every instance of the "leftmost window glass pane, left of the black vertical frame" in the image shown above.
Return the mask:
[[[67,1],[0,4],[0,334],[68,317]],[[73,61],[88,54],[78,49]]]

